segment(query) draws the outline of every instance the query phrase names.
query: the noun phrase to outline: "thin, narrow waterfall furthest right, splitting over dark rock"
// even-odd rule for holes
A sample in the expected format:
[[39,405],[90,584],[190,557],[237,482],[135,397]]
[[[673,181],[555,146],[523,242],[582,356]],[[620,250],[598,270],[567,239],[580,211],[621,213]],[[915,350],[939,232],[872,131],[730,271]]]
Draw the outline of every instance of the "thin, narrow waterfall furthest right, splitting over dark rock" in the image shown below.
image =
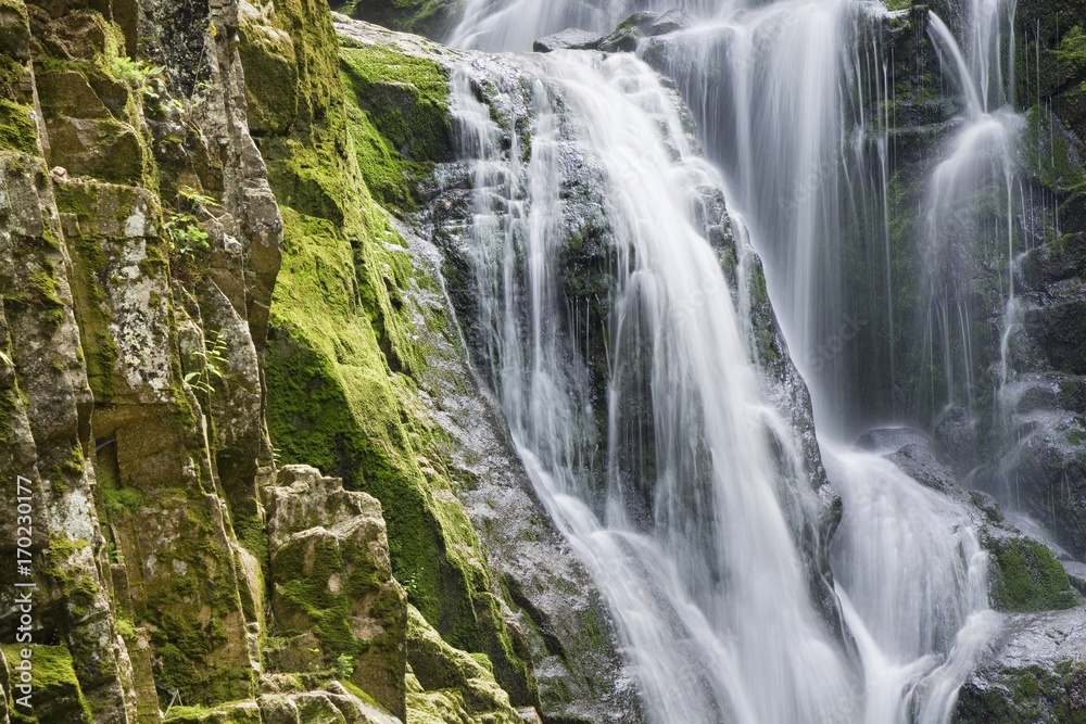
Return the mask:
[[[969,289],[976,259],[1006,267],[1000,388],[1007,383],[1007,345],[1014,323],[1014,167],[1015,145],[1024,122],[1006,102],[1008,92],[1000,71],[1000,2],[974,0],[968,59],[954,34],[934,13],[930,24],[942,65],[961,89],[965,110],[962,128],[949,156],[936,167],[924,204],[925,274],[931,292],[922,325],[932,354],[943,352],[946,404],[968,408],[975,405],[977,389],[972,332],[977,312]],[[1013,2],[1008,13],[1008,24],[1013,27]],[[1013,63],[1012,53],[1008,65],[1013,67]]]

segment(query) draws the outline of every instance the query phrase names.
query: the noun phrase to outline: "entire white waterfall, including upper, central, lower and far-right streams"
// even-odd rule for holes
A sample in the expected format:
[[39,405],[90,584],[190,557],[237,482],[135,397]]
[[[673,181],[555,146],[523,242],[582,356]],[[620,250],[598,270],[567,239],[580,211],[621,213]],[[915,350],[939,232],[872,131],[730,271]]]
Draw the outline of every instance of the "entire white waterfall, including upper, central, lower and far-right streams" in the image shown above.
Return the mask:
[[[893,450],[853,449],[866,421],[838,401],[856,360],[828,348],[867,323],[849,318],[842,292],[837,239],[855,209],[882,208],[875,268],[889,265],[889,118],[870,117],[886,104],[864,100],[889,93],[870,30],[885,9],[468,0],[453,42],[522,51],[645,7],[699,18],[660,47],[656,64],[674,86],[621,53],[478,55],[454,77],[472,168],[479,365],[541,498],[610,605],[649,721],[948,722],[999,626],[986,556],[960,501],[881,455]],[[996,178],[1013,262],[1019,119],[1005,105],[1013,63],[1001,60],[999,12],[1013,8],[975,1],[965,52],[930,17],[965,109],[933,172],[932,259],[947,209]],[[570,266],[573,238],[606,259],[606,284]],[[754,251],[844,503],[829,544],[835,596],[811,560],[826,545],[826,488],[811,485],[759,365]],[[571,279],[595,296],[571,299]],[[893,363],[887,373],[893,386]]]

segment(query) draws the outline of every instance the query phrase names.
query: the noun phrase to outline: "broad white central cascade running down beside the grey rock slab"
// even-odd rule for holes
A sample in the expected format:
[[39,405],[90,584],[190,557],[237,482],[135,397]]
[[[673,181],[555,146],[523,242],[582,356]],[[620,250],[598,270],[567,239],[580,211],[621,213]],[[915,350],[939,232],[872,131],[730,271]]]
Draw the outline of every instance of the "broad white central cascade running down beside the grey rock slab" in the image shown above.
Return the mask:
[[[693,153],[675,97],[642,62],[517,64],[532,79],[530,152],[503,148],[506,136],[469,85],[455,96],[484,190],[471,230],[484,356],[541,497],[615,611],[647,713],[755,723],[839,712],[851,700],[847,663],[811,605],[793,537],[819,501],[787,425],[759,395],[707,240],[708,226],[727,225],[722,207],[714,218],[706,205],[720,180]],[[519,88],[515,79],[505,90]],[[649,490],[649,532],[628,516],[616,475],[604,504],[592,505],[589,373],[563,333],[558,283],[570,180],[563,154],[595,169],[589,178],[616,255],[611,445],[621,410],[637,402],[624,377],[648,366],[655,475],[637,484]]]

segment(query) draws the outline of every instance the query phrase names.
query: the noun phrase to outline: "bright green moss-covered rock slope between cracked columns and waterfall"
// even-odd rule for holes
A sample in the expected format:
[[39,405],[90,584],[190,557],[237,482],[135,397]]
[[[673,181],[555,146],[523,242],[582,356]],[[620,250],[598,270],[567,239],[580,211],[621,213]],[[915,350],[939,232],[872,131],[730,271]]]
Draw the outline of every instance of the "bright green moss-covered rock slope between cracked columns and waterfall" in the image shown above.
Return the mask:
[[341,61],[327,5],[311,0],[277,3],[272,22],[292,36],[305,94],[290,130],[261,142],[285,224],[266,360],[273,444],[281,461],[381,501],[409,600],[451,644],[490,656],[502,685],[532,706],[440,433],[416,404],[430,358],[417,325],[447,319],[411,295],[440,282],[415,268],[375,202],[409,211],[428,164],[453,157],[447,72],[388,45]]

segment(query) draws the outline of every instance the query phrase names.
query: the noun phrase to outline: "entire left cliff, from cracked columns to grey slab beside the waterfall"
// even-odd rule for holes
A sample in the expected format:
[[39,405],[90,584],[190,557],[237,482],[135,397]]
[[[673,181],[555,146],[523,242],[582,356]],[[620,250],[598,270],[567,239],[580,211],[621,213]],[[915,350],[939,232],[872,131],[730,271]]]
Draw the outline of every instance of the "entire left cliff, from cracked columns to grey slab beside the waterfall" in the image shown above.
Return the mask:
[[341,48],[320,0],[91,5],[0,1],[0,491],[34,517],[2,507],[0,577],[38,666],[20,710],[9,587],[0,722],[635,711],[557,534],[518,552],[545,516],[395,216],[454,154],[435,47]]

